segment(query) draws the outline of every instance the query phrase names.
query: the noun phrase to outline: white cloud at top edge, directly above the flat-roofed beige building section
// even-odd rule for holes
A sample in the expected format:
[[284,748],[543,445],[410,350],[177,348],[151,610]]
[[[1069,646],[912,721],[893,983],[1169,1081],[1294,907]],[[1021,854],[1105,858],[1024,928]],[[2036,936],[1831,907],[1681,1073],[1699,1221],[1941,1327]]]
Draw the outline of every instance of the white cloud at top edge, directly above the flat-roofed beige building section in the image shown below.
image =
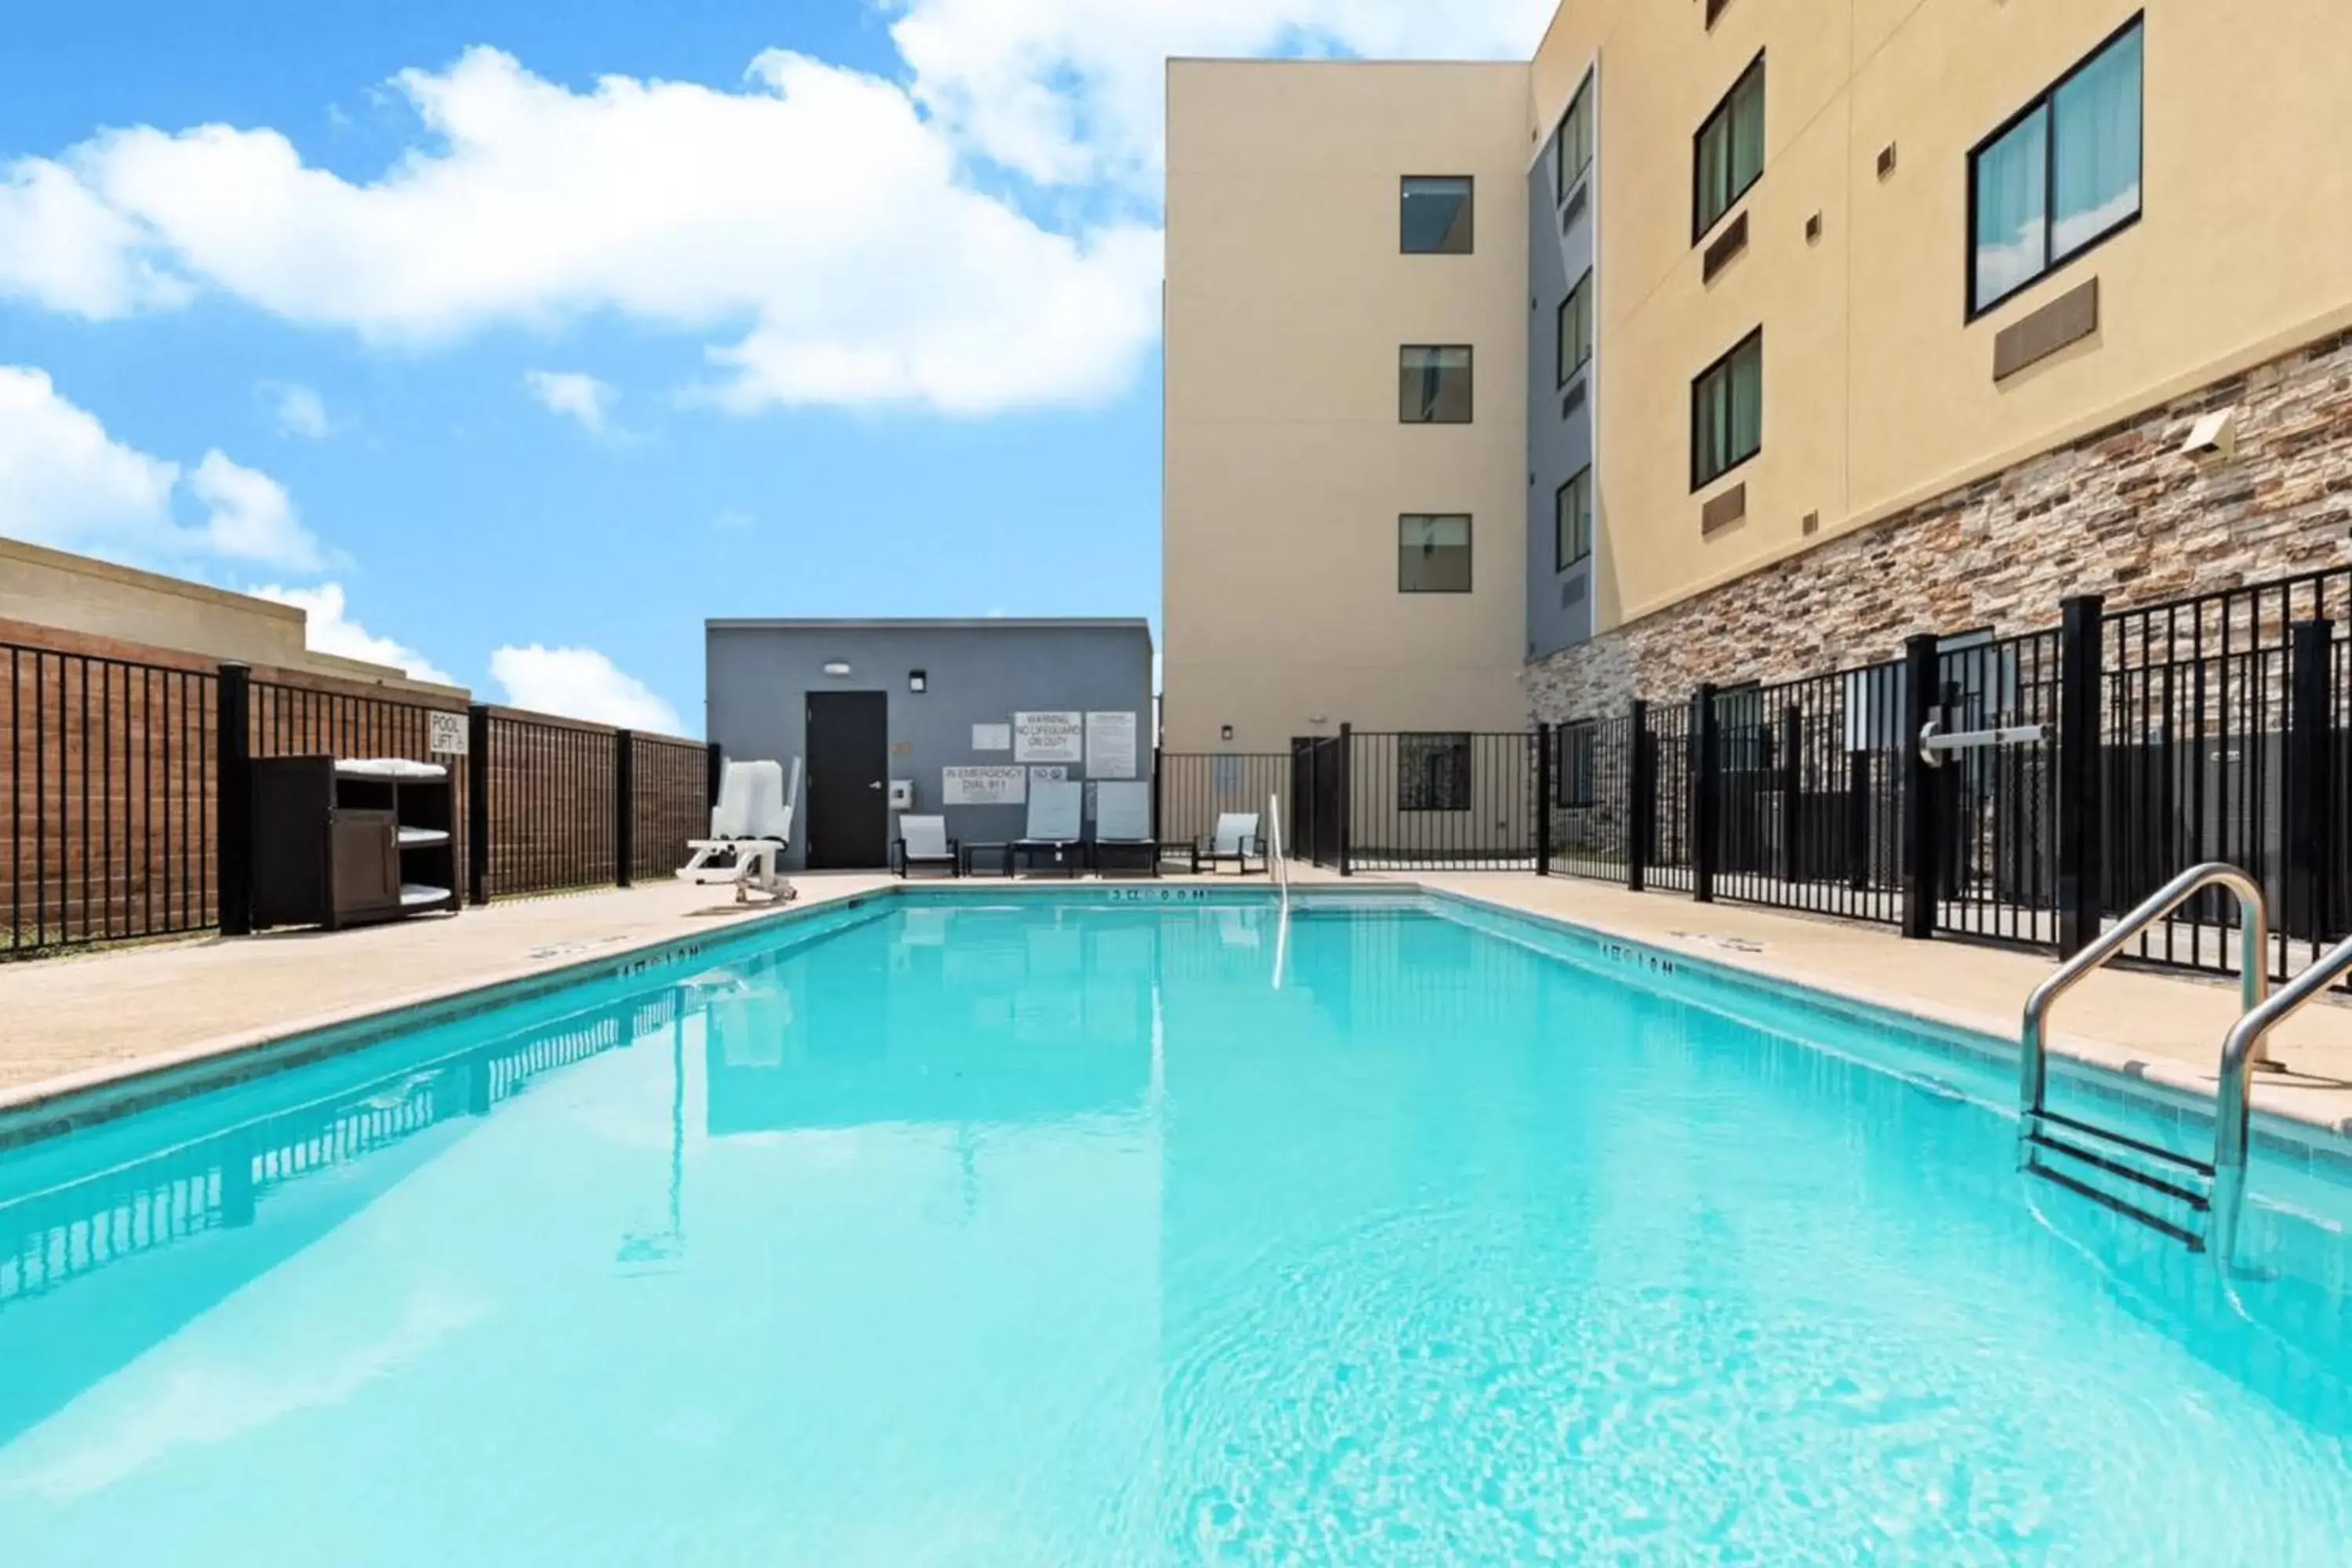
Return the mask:
[[1157,174],[1169,56],[1526,59],[1557,0],[896,0],[915,99],[1044,183]]

